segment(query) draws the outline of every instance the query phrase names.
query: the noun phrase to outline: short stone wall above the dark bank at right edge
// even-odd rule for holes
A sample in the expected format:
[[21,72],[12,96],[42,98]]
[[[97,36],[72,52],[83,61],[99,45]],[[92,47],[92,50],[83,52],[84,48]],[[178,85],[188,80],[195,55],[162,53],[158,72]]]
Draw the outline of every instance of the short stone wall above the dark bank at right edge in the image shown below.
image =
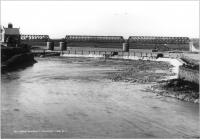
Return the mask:
[[199,84],[199,71],[180,66],[178,78]]

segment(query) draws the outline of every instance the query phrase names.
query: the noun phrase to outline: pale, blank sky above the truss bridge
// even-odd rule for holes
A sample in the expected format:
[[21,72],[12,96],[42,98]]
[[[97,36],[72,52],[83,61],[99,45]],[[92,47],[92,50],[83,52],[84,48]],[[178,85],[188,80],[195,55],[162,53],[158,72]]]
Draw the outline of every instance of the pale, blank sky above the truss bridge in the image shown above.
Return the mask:
[[199,38],[199,1],[1,1],[21,34]]

